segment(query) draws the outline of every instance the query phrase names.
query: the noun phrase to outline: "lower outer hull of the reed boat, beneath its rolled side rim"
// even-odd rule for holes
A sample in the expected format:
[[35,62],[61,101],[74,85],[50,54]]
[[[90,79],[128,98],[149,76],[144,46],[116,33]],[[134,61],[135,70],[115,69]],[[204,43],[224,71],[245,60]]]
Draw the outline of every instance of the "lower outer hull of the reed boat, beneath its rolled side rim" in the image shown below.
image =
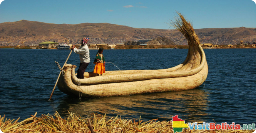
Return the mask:
[[[58,88],[68,95],[82,97],[109,97],[117,95],[145,94],[152,92],[167,92],[189,90],[199,87],[207,77],[208,67],[201,72],[187,77],[149,79],[134,82],[117,82],[108,84],[77,85],[72,82],[71,68],[61,75]],[[71,84],[67,84],[71,83]]]

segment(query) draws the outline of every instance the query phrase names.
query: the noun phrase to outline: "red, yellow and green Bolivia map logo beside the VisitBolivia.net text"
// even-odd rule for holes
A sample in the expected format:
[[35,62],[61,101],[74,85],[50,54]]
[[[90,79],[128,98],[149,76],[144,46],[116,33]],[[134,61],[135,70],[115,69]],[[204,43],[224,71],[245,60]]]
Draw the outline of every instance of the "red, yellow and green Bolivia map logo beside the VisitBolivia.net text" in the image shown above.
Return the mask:
[[183,128],[188,128],[189,126],[185,124],[184,120],[178,118],[178,115],[172,117],[172,128],[174,133],[181,132]]

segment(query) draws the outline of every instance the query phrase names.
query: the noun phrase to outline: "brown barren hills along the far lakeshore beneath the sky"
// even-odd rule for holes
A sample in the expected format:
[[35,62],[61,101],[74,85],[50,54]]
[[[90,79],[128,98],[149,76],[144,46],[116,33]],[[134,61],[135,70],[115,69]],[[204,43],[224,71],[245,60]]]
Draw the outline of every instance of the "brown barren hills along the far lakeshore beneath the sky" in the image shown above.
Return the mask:
[[[237,44],[256,41],[256,28],[206,28],[195,29],[201,43]],[[155,39],[154,43],[169,45],[168,39],[177,44],[186,44],[186,40],[177,30],[142,29],[109,23],[52,24],[37,21],[20,20],[0,23],[0,44],[38,44],[44,41],[79,43],[84,37],[89,43],[124,43],[139,39]],[[156,42],[156,38],[166,38]],[[218,41],[218,42],[217,42]],[[169,43],[168,43],[169,42]],[[150,42],[149,42],[150,43]]]

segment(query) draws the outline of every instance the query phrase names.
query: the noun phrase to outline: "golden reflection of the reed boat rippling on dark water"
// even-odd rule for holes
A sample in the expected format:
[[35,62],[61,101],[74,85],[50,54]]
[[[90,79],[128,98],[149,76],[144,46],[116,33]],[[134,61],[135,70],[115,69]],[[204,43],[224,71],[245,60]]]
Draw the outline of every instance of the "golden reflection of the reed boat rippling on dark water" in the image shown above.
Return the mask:
[[158,118],[172,120],[172,116],[179,115],[187,122],[204,121],[209,115],[207,110],[207,92],[204,89],[193,89],[177,92],[161,92],[122,97],[102,97],[82,99],[67,96],[58,107],[62,116],[69,112],[83,118],[91,117],[94,113],[107,117],[122,116],[126,119],[141,119],[144,121]]

